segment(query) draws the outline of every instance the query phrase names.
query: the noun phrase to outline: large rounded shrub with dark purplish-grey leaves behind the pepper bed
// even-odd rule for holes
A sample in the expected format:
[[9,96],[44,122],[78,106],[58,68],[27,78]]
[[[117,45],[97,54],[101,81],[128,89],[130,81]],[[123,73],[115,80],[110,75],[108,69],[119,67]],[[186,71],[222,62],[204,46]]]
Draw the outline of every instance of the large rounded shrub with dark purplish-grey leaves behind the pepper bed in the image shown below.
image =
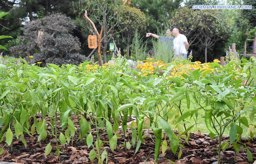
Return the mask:
[[[71,19],[62,14],[33,20],[25,25],[24,36],[19,37],[19,42],[22,44],[13,46],[10,50],[20,56],[32,55],[32,63],[78,65],[85,60],[85,57],[78,53],[80,50],[78,38],[70,34],[74,28]],[[38,36],[41,31],[43,33]]]

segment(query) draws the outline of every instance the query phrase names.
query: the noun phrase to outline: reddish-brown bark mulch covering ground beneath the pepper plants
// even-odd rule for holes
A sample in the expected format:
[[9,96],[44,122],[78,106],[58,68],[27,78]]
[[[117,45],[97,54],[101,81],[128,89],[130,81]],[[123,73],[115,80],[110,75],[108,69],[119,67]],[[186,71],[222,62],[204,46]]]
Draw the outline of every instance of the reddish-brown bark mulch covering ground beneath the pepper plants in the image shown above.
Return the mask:
[[[89,118],[86,118],[88,121]],[[32,119],[33,120],[33,119]],[[49,120],[48,120],[49,121]],[[131,120],[129,120],[131,121]],[[78,128],[77,125],[77,117],[73,116],[73,122]],[[51,129],[51,125],[48,124],[48,129]],[[60,127],[57,126],[59,129]],[[14,133],[14,131],[13,131]],[[104,134],[100,137],[102,141],[108,141],[107,132],[105,129],[100,131],[100,134]],[[109,144],[104,142],[104,146],[106,151],[108,152],[108,163],[150,163],[154,164],[154,139],[153,132],[151,130],[145,130],[143,135],[149,136],[145,138],[145,144],[141,143],[141,147],[138,152],[135,154],[135,148],[137,143],[135,144],[135,148],[131,146],[130,150],[125,151],[123,144],[123,133],[122,130],[118,130],[116,134],[120,134],[117,138],[117,147],[114,152],[111,152]],[[96,130],[92,128],[92,135],[96,140]],[[128,129],[126,136],[129,136],[131,139],[132,133],[131,130]],[[40,163],[98,163],[97,158],[94,159],[93,162],[89,159],[89,152],[92,149],[92,146],[88,148],[86,144],[79,139],[79,134],[76,134],[73,139],[71,139],[69,144],[65,144],[65,146],[61,147],[60,156],[55,156],[54,152],[56,151],[56,140],[52,135],[48,135],[45,141],[37,142],[38,134],[35,133],[33,137],[29,135],[25,135],[25,140],[27,142],[27,149],[22,144],[20,138],[13,138],[13,151],[11,151],[11,146],[5,146],[3,149],[3,154],[0,156],[0,161],[2,162],[12,162],[12,163],[32,163],[32,164],[40,164]],[[166,140],[168,137],[166,138]],[[94,140],[94,141],[95,141]],[[181,139],[182,140],[182,139]],[[226,142],[228,137],[222,138],[222,143]],[[45,147],[51,141],[52,150],[48,156],[45,156]],[[170,142],[168,143],[168,148],[164,154],[162,152],[159,153],[159,163],[166,164],[170,163],[167,159],[172,160],[175,163],[205,163],[212,164],[217,161],[217,151],[218,148],[218,139],[214,138],[210,139],[208,135],[200,133],[190,133],[189,144],[182,140],[182,144],[185,147],[182,149],[181,158],[178,159],[178,152],[173,154],[170,150]],[[131,142],[130,142],[131,143]],[[5,141],[0,144],[0,147],[5,145]],[[256,160],[256,138],[253,140],[244,140],[241,139],[241,150],[239,153],[236,153],[237,160],[236,163],[239,164],[249,164],[247,160],[246,148],[252,152],[253,161]],[[160,151],[162,149],[160,148]],[[235,163],[234,162],[234,149],[232,147],[228,147],[225,152],[221,152],[222,162],[221,163]],[[145,162],[146,161],[146,162]]]

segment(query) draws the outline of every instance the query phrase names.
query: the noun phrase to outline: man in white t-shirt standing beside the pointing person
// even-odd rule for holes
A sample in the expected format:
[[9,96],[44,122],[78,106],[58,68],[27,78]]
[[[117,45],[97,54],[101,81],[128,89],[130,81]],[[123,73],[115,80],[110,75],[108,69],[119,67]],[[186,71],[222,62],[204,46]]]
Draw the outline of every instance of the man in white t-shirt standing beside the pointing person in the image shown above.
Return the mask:
[[177,27],[172,30],[172,33],[175,36],[173,40],[175,57],[182,55],[184,58],[187,58],[187,49],[189,46],[187,38],[185,35],[179,33],[179,28]]

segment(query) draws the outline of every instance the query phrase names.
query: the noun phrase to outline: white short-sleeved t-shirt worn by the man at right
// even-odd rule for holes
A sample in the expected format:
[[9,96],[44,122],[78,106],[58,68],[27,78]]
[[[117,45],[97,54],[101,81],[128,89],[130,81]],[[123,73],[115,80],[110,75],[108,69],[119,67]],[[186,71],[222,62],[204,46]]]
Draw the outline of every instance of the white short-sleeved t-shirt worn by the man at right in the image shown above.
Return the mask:
[[175,55],[187,54],[184,42],[187,42],[187,38],[183,34],[179,34],[176,38],[174,38],[173,48],[175,50]]

